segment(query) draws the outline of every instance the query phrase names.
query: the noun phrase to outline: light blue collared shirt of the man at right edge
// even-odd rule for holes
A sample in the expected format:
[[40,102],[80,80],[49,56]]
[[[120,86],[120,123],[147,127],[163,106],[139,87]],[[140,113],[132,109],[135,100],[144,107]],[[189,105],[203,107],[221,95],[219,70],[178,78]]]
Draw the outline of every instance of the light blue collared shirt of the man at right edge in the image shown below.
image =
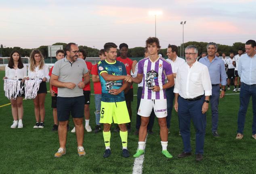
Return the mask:
[[237,72],[241,82],[248,85],[256,84],[256,55],[241,55]]

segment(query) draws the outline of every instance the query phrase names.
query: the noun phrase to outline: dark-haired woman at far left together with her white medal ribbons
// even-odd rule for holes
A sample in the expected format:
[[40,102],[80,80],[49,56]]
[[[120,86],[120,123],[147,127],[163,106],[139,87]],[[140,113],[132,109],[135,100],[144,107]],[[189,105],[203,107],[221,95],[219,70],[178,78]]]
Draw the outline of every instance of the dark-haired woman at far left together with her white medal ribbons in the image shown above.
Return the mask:
[[[13,125],[10,128],[23,128],[23,96],[24,92],[24,80],[27,76],[27,66],[23,65],[21,60],[21,54],[14,50],[10,54],[10,60],[5,67],[5,86],[8,90],[8,95],[12,107]],[[7,82],[8,81],[8,82]],[[15,86],[16,84],[16,86]],[[17,86],[17,84],[19,86]],[[17,92],[17,94],[15,94]],[[19,121],[18,121],[19,119]]]

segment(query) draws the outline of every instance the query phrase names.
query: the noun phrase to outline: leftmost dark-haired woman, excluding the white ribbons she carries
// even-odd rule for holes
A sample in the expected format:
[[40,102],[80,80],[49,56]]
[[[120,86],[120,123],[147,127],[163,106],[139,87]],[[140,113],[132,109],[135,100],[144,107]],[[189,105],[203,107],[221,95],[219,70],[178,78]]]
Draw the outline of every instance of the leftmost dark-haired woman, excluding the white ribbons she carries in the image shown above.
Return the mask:
[[12,79],[12,80],[22,80],[21,82],[21,90],[19,92],[16,99],[10,99],[10,104],[12,108],[13,115],[13,124],[10,128],[23,128],[23,97],[25,96],[24,91],[24,80],[27,77],[27,66],[24,66],[21,59],[21,54],[17,50],[13,50],[10,53],[10,60],[8,65],[5,67],[5,77],[4,79]]

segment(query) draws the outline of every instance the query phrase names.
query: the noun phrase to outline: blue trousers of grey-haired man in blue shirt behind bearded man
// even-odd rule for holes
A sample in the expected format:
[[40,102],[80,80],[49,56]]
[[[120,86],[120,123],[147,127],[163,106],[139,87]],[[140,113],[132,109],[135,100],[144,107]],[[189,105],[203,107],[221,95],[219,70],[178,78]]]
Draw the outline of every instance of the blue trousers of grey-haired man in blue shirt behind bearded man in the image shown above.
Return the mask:
[[[212,86],[212,95],[210,96],[211,109],[212,109],[212,132],[218,129],[218,105],[220,98],[220,86]],[[206,120],[205,120],[206,127]]]

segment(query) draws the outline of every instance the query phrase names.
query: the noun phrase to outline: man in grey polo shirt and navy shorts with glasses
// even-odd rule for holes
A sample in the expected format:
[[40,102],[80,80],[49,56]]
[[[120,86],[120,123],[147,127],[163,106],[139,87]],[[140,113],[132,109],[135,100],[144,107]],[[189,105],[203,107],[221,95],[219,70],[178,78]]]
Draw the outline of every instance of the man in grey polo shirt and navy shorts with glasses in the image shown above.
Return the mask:
[[[79,49],[75,43],[67,44],[67,56],[55,63],[50,83],[58,87],[57,115],[59,121],[59,150],[55,157],[66,154],[67,123],[71,113],[76,127],[78,155],[84,156],[84,94],[83,88],[90,81],[86,63],[78,59]],[[82,81],[84,78],[84,81]]]

